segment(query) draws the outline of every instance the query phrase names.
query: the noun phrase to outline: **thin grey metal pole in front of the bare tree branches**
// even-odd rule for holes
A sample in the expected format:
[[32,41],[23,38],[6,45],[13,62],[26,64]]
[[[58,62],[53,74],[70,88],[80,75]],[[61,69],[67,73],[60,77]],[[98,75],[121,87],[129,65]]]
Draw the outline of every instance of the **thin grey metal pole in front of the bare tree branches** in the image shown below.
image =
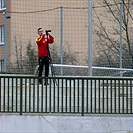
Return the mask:
[[[120,0],[120,69],[122,68],[122,19],[123,15],[123,0]],[[122,72],[120,71],[120,76],[122,77]]]

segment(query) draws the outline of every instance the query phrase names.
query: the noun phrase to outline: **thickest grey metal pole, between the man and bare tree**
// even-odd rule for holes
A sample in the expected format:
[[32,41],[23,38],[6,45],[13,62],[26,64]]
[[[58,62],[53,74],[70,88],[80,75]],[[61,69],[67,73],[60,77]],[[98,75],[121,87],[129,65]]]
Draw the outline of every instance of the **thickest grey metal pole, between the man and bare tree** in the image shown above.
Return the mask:
[[88,74],[92,76],[92,0],[88,0]]

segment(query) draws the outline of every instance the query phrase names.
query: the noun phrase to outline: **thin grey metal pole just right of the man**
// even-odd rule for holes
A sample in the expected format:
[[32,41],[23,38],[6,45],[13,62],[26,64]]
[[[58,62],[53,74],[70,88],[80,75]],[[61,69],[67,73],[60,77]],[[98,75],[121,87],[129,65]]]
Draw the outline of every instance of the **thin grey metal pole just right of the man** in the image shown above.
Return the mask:
[[[63,64],[63,7],[60,8],[60,63]],[[63,75],[63,67],[60,74]]]

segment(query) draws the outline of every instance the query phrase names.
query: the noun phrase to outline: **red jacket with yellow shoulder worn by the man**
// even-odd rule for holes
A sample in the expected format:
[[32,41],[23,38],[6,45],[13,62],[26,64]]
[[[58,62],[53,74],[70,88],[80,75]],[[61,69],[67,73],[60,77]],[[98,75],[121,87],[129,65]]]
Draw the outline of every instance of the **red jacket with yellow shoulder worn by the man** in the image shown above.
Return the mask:
[[46,38],[45,36],[38,37],[36,39],[36,43],[38,45],[38,57],[49,56],[47,45],[53,42],[54,38],[52,36],[49,36],[48,38]]

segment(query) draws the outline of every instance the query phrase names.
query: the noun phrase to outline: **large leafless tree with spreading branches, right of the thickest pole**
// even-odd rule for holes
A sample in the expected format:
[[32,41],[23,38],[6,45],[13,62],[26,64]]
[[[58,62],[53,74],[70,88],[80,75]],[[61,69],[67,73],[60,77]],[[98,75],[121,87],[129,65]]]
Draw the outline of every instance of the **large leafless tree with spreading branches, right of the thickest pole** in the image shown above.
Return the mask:
[[[132,1],[122,0],[122,40],[123,67],[132,68]],[[120,0],[103,0],[103,5],[93,8],[95,19],[94,35],[98,37],[95,43],[98,48],[95,64],[119,67],[120,56]],[[102,10],[102,12],[99,12]],[[95,23],[96,22],[96,23]],[[106,62],[106,64],[105,64]],[[128,64],[128,65],[127,65]]]

